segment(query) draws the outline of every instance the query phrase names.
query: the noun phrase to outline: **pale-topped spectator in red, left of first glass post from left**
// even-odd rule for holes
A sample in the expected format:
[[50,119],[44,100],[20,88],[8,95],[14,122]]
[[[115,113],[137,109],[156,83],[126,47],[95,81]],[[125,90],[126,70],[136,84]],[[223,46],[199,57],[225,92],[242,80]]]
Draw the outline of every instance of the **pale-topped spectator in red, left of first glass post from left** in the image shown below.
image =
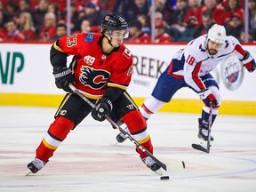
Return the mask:
[[53,12],[47,12],[44,16],[44,28],[40,31],[39,41],[47,42],[56,35],[56,16]]

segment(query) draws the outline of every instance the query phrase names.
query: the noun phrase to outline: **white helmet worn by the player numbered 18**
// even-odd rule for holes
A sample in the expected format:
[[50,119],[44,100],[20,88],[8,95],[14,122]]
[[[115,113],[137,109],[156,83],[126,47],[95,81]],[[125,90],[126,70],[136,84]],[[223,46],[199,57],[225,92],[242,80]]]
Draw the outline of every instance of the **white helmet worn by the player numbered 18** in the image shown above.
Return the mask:
[[216,44],[223,44],[226,40],[226,29],[223,26],[214,24],[208,31],[208,39],[211,39]]

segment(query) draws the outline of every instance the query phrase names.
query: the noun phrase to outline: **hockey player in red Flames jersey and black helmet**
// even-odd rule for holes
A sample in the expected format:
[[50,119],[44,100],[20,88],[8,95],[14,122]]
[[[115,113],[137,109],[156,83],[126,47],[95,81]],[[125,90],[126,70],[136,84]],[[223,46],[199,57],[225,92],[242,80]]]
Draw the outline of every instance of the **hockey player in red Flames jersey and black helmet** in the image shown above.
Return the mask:
[[[105,115],[127,124],[132,137],[153,154],[147,124],[139,109],[126,92],[132,76],[132,52],[123,44],[128,37],[128,24],[118,14],[108,14],[101,22],[101,34],[81,33],[60,37],[51,48],[51,63],[55,84],[68,92],[55,114],[44,139],[36,148],[35,159],[28,164],[29,172],[44,167],[53,152],[90,113],[97,121]],[[67,67],[68,55],[74,55]],[[96,108],[71,92],[69,84],[83,92]],[[160,168],[140,148],[136,148],[144,164],[152,171]]]

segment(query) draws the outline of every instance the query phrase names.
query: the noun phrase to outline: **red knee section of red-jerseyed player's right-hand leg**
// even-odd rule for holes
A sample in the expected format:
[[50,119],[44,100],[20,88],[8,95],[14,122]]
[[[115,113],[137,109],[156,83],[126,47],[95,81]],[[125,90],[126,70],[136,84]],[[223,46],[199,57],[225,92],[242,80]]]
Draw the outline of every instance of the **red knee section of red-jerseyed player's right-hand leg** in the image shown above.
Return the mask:
[[127,125],[131,133],[141,132],[147,129],[146,120],[139,110],[132,110],[121,118],[121,120]]

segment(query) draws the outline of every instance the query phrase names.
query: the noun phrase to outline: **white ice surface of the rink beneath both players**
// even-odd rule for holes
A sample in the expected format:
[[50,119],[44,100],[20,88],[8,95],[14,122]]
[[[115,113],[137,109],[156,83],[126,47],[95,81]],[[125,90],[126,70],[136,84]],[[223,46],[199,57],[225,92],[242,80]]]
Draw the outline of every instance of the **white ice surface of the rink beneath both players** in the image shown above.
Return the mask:
[[[155,156],[170,180],[140,161],[134,144],[88,116],[68,134],[49,163],[31,176],[27,164],[57,108],[0,107],[0,191],[255,192],[256,117],[218,116],[211,153],[197,142],[199,115],[157,113],[148,120]],[[184,161],[186,168],[182,168]]]

